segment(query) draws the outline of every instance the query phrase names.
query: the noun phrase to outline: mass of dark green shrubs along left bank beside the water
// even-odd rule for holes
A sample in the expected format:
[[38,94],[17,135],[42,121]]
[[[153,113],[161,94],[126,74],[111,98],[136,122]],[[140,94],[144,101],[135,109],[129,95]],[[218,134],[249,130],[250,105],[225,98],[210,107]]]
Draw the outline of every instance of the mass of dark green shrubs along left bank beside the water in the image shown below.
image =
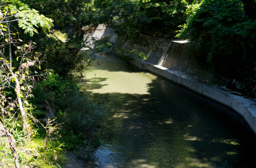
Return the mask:
[[[79,91],[74,81],[63,79],[57,74],[47,77],[35,87],[33,102],[40,101],[37,97],[47,99],[55,111],[58,111],[58,121],[64,122],[60,140],[65,143],[65,147],[74,149],[83,158],[91,156],[99,145],[99,137],[95,134],[101,129],[100,122],[106,116],[105,107],[94,104]],[[81,146],[86,150],[81,151]]]

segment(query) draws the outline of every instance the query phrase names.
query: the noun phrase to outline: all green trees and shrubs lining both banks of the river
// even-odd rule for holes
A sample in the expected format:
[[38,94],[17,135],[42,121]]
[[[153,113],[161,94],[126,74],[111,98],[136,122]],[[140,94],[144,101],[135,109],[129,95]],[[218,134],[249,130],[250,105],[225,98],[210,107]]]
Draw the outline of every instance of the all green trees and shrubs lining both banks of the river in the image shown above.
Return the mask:
[[256,92],[255,9],[253,0],[1,0],[0,166],[62,167],[66,150],[89,158],[100,145],[106,109],[74,77],[90,55],[113,51],[109,37],[85,42],[98,24],[126,37],[189,39],[191,55]]

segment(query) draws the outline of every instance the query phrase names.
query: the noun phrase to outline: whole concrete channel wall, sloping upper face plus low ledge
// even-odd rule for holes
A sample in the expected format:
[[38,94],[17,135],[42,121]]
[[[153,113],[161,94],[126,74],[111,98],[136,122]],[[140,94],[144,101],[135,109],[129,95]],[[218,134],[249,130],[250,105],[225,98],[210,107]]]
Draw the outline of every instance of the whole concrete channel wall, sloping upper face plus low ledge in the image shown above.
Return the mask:
[[[112,36],[111,42],[115,45],[147,54],[147,60],[129,59],[133,65],[163,76],[184,88],[233,109],[243,116],[256,134],[256,101],[217,85],[210,85],[209,81],[214,78],[213,73],[209,70],[202,73],[203,67],[198,64],[198,61],[187,57],[186,41],[140,35],[138,37],[140,43],[138,43],[122,37],[116,38],[117,34],[109,27],[106,29],[100,26],[99,29],[101,31],[95,31],[96,34],[93,34],[97,39]],[[102,29],[106,30],[102,31]]]

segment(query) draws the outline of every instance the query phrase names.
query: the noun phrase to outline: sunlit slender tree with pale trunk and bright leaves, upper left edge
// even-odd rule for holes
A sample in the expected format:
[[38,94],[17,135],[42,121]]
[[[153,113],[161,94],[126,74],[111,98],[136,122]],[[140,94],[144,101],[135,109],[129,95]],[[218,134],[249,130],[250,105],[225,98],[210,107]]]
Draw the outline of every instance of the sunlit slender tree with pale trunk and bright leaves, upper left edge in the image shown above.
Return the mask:
[[[19,6],[14,6],[13,4]],[[17,96],[17,103],[19,105],[19,110],[20,110],[20,115],[22,116],[22,126],[23,126],[23,131],[24,134],[27,135],[28,132],[28,125],[26,123],[26,114],[24,111],[24,105],[23,105],[23,95],[22,95],[22,87],[20,84],[25,81],[25,74],[28,73],[29,66],[33,66],[36,62],[37,59],[34,59],[29,63],[29,58],[27,55],[32,53],[32,43],[30,45],[25,44],[24,47],[17,46],[19,44],[18,41],[21,41],[21,39],[16,39],[15,37],[17,36],[18,33],[13,33],[11,31],[11,26],[13,22],[17,22],[18,26],[24,29],[24,33],[29,33],[30,36],[33,36],[34,33],[37,33],[37,30],[34,28],[35,27],[42,27],[43,29],[50,29],[52,26],[52,20],[46,18],[43,15],[40,15],[38,11],[34,9],[30,9],[26,4],[21,3],[20,1],[9,1],[9,0],[4,0],[1,4],[1,20],[0,20],[0,26],[1,26],[1,36],[2,40],[4,40],[1,43],[1,50],[0,50],[0,55],[1,59],[3,61],[3,65],[1,66],[1,70],[3,73],[3,79],[2,82],[4,81],[4,85],[9,85],[8,87],[12,87],[10,85],[11,82],[15,83],[15,92]],[[6,24],[6,25],[4,25]],[[7,29],[6,29],[7,28]],[[15,27],[14,27],[15,29]],[[6,38],[7,37],[7,38]],[[6,55],[5,50],[6,50],[6,43],[9,45],[9,52],[8,55]],[[18,61],[19,57],[21,58],[20,60],[20,65],[19,68],[16,68],[16,72],[14,72],[14,67],[12,67],[12,55],[14,54],[12,52],[12,45],[14,47],[17,47],[17,51],[15,52],[16,59]],[[18,53],[18,55],[17,55]],[[9,61],[7,61],[7,57],[9,57]],[[27,62],[27,65],[25,65]],[[8,73],[7,70],[8,69]],[[26,73],[20,73],[22,71],[26,71]],[[10,76],[11,75],[11,76]],[[25,89],[23,89],[25,90]],[[23,98],[23,100],[26,100]]]

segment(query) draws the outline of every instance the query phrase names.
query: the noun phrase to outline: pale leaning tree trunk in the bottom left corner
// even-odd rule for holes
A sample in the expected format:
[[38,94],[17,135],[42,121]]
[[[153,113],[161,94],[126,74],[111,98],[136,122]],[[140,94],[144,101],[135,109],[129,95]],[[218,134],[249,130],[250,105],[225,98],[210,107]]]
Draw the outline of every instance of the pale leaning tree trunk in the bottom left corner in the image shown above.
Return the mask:
[[16,142],[15,142],[15,139],[13,138],[13,135],[10,134],[6,129],[4,129],[1,124],[0,124],[0,133],[7,137],[9,146],[10,146],[10,149],[12,152],[12,156],[13,156],[13,159],[15,162],[15,167],[20,168],[19,161],[18,161],[18,155],[17,155],[17,151],[16,151],[16,147],[15,147]]

